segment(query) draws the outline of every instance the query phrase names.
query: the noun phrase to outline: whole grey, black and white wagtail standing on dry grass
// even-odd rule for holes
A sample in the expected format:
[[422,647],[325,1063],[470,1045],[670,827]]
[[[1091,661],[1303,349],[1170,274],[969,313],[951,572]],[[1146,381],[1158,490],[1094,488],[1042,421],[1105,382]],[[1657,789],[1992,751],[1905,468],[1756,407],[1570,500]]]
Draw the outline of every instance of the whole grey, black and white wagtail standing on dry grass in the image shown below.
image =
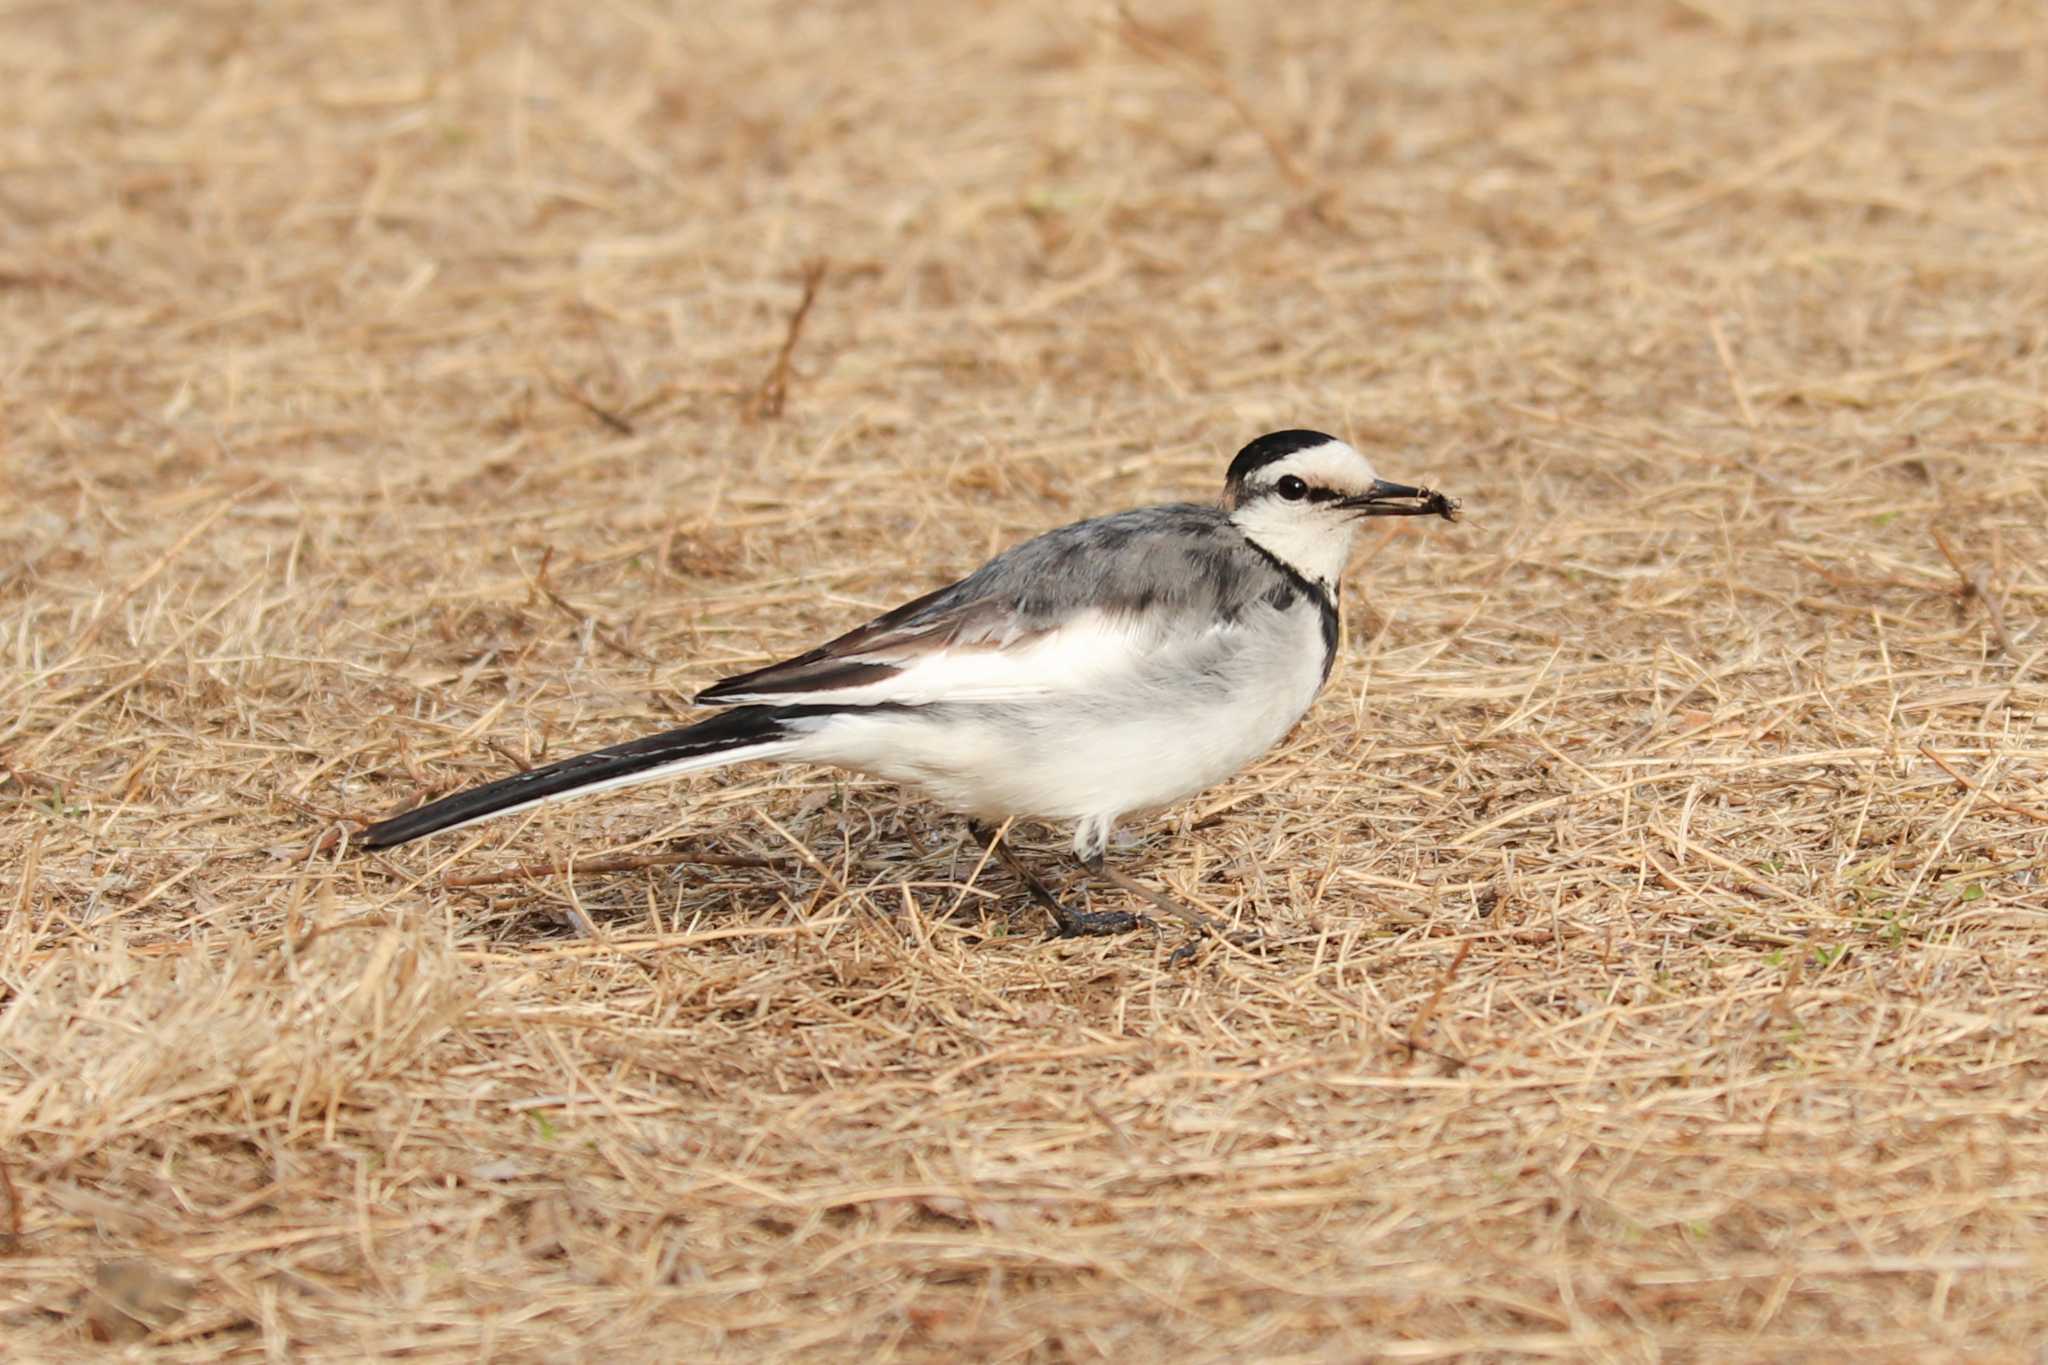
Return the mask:
[[1223,782],[1309,712],[1337,657],[1339,579],[1362,520],[1456,510],[1380,479],[1335,436],[1270,432],[1237,452],[1214,503],[1049,530],[809,653],[705,688],[696,704],[719,708],[705,720],[442,796],[356,843],[393,847],[750,759],[823,763],[965,814],[1059,935],[1149,919],[1069,909],[1010,849],[1010,821],[1071,823],[1083,872],[1219,931],[1110,866],[1112,829]]

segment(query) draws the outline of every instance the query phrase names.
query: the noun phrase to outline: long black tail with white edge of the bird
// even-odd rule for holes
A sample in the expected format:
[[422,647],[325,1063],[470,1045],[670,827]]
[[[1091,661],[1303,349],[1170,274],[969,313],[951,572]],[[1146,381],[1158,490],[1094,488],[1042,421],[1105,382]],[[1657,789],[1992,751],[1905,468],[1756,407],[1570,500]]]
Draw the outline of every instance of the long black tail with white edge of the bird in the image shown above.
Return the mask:
[[629,739],[610,749],[580,753],[547,767],[473,786],[467,792],[430,800],[418,810],[393,814],[365,829],[356,843],[385,849],[422,835],[457,829],[494,814],[508,814],[549,800],[584,796],[606,788],[659,782],[698,767],[719,767],[754,757],[780,757],[797,737],[803,720],[829,716],[836,706],[739,706],[696,724],[666,735]]

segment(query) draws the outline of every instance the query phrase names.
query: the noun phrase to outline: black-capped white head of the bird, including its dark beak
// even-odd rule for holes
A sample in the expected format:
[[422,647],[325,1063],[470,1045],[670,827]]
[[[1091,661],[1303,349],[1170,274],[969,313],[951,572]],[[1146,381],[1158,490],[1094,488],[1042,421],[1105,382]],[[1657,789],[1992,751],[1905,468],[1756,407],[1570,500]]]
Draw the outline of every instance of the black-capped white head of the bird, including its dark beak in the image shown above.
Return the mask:
[[1223,481],[1223,508],[1264,551],[1329,585],[1350,559],[1360,520],[1452,520],[1458,512],[1442,493],[1380,479],[1364,454],[1323,432],[1270,432],[1239,450]]

